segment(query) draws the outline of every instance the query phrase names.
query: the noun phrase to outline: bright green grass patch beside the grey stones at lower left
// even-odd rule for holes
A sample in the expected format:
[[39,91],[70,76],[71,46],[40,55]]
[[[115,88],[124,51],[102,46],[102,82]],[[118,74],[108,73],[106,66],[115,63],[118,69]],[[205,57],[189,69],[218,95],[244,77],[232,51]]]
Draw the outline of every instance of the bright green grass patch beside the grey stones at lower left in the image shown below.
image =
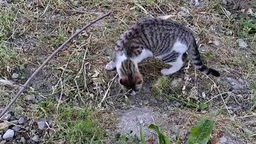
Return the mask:
[[95,121],[94,112],[90,109],[60,107],[57,124],[60,136],[68,143],[100,143],[105,131]]

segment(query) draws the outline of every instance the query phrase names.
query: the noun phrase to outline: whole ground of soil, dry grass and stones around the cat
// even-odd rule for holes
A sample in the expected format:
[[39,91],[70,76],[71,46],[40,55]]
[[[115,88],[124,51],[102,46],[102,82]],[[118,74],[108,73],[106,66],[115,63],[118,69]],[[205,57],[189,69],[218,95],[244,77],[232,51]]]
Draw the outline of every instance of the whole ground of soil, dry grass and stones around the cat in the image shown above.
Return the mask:
[[[140,127],[148,143],[157,143],[150,124],[161,126],[172,143],[186,143],[203,117],[214,121],[209,143],[255,143],[255,6],[253,0],[0,0],[0,112],[54,50],[112,12],[34,78],[1,118],[0,143],[123,143],[122,135],[134,143]],[[208,77],[188,62],[163,78],[163,63],[148,59],[139,65],[141,92],[122,92],[117,73],[105,70],[109,51],[144,17],[179,21],[194,31],[205,65],[221,77]]]

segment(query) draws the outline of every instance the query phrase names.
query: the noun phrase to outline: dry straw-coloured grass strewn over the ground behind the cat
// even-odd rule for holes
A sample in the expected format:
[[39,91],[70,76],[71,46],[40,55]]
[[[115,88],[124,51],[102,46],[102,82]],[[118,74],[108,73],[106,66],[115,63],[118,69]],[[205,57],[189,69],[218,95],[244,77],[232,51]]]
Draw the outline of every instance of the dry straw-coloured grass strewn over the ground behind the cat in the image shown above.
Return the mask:
[[[186,7],[189,13],[181,13],[180,7]],[[20,75],[19,79],[14,81],[15,85],[0,86],[1,99],[3,99],[0,102],[0,107],[4,107],[10,101],[18,89],[17,85],[23,84],[46,57],[77,29],[82,28],[98,15],[113,11],[112,17],[95,23],[59,53],[58,57],[51,60],[23,94],[41,95],[46,101],[45,105],[53,105],[53,109],[46,110],[47,113],[42,114],[42,108],[45,106],[27,103],[21,97],[12,110],[18,110],[15,113],[21,113],[32,121],[36,121],[45,117],[58,119],[59,115],[56,111],[58,103],[60,106],[69,103],[69,106],[75,109],[89,108],[111,111],[111,109],[122,108],[123,105],[126,105],[124,94],[120,91],[116,79],[110,83],[116,75],[115,72],[104,70],[105,64],[110,60],[110,57],[104,54],[104,50],[113,49],[115,39],[135,21],[143,17],[169,15],[170,19],[182,22],[195,32],[204,62],[207,66],[219,70],[222,76],[221,78],[212,78],[211,81],[195,70],[190,63],[188,69],[172,77],[172,80],[181,78],[182,82],[177,87],[166,88],[165,95],[171,95],[171,97],[160,98],[160,103],[172,105],[173,101],[179,99],[181,101],[178,100],[178,102],[182,104],[181,108],[193,105],[193,111],[201,112],[194,112],[193,115],[196,118],[191,117],[192,120],[203,116],[202,111],[217,109],[220,115],[212,117],[216,121],[215,131],[224,131],[229,132],[230,135],[240,136],[244,135],[243,132],[236,131],[236,129],[241,129],[243,126],[256,131],[252,119],[247,119],[247,121],[246,118],[239,119],[239,117],[247,116],[255,118],[253,111],[255,111],[256,91],[256,36],[255,33],[246,33],[244,27],[247,24],[241,24],[235,18],[227,18],[218,2],[206,1],[204,8],[197,9],[185,1],[158,0],[149,3],[149,1],[123,0],[67,2],[38,0],[4,3],[0,10],[2,15],[10,13],[7,18],[0,19],[0,26],[8,26],[1,29],[0,76],[11,79],[13,73]],[[7,23],[2,24],[1,22],[6,19]],[[237,33],[237,31],[243,30],[245,32],[242,35]],[[232,33],[227,35],[227,31],[232,31]],[[2,33],[4,37],[2,37]],[[239,49],[238,38],[244,38],[249,46],[246,49]],[[220,44],[214,46],[212,44],[214,41],[218,41]],[[145,89],[137,98],[131,98],[132,105],[153,98],[150,87],[159,78],[159,69],[162,67],[162,63],[154,59],[141,63],[140,69],[146,79]],[[241,79],[243,86],[246,87],[246,92],[237,94],[229,91],[230,83],[225,80],[225,77],[231,77],[236,81]],[[49,101],[51,102],[47,103]],[[201,110],[204,102],[206,102],[206,107],[204,105],[204,110]],[[189,103],[190,105],[188,105]],[[153,106],[154,104],[150,102],[146,105]],[[32,110],[34,107],[41,108]],[[162,108],[162,104],[159,107]],[[231,117],[227,113],[227,108]],[[186,109],[182,113],[186,113]],[[110,116],[109,122],[105,123],[113,124],[111,118],[113,117]],[[194,124],[192,120],[191,124]],[[106,127],[100,123],[97,125],[101,129]],[[53,124],[50,127],[49,131],[51,132],[61,131],[59,124]],[[33,135],[33,132],[30,134]],[[249,142],[256,141],[255,136],[244,135],[243,137]],[[46,143],[60,140],[48,137],[47,134],[44,138],[47,139]],[[61,137],[61,140],[66,141],[67,139]]]

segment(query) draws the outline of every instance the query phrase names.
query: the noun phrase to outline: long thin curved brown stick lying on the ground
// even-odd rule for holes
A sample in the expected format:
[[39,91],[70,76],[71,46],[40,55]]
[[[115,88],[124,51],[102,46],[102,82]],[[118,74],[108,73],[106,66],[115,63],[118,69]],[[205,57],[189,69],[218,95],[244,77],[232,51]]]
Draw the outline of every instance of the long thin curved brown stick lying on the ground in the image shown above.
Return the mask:
[[4,114],[6,113],[7,110],[10,109],[10,107],[13,105],[13,103],[20,97],[21,93],[26,89],[26,87],[28,86],[28,84],[30,83],[30,81],[37,75],[37,73],[42,70],[42,68],[52,59],[52,57],[54,55],[56,55],[58,52],[60,52],[73,38],[75,38],[78,34],[82,33],[82,31],[84,31],[87,27],[90,27],[93,23],[101,20],[102,18],[107,17],[108,15],[110,15],[111,12],[108,12],[104,15],[102,15],[101,17],[91,21],[88,25],[84,26],[81,30],[77,31],[73,36],[71,36],[65,43],[63,43],[57,50],[55,50],[43,63],[42,65],[37,68],[37,70],[28,78],[28,80],[26,81],[26,83],[23,85],[23,87],[20,89],[20,91],[15,95],[15,97],[11,100],[11,102],[9,103],[9,105],[7,105],[4,110],[2,111],[2,113],[0,114],[0,119],[4,116]]

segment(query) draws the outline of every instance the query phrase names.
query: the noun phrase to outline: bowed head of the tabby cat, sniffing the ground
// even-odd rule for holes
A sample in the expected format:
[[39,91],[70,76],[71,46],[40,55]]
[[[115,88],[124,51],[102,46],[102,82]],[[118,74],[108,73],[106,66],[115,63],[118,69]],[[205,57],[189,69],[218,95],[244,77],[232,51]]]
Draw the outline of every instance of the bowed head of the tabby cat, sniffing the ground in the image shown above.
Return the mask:
[[119,74],[119,84],[122,89],[131,94],[139,92],[142,88],[143,78],[138,70],[138,66],[131,60],[124,60],[117,70]]

